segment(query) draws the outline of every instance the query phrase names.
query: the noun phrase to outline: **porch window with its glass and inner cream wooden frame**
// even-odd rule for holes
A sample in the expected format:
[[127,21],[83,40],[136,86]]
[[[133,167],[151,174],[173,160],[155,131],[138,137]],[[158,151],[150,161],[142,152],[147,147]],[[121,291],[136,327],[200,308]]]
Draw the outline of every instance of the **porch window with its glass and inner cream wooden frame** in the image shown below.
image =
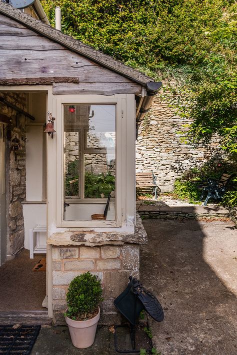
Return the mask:
[[120,203],[117,203],[120,101],[108,97],[103,102],[60,100],[62,226],[118,226],[120,223]]

